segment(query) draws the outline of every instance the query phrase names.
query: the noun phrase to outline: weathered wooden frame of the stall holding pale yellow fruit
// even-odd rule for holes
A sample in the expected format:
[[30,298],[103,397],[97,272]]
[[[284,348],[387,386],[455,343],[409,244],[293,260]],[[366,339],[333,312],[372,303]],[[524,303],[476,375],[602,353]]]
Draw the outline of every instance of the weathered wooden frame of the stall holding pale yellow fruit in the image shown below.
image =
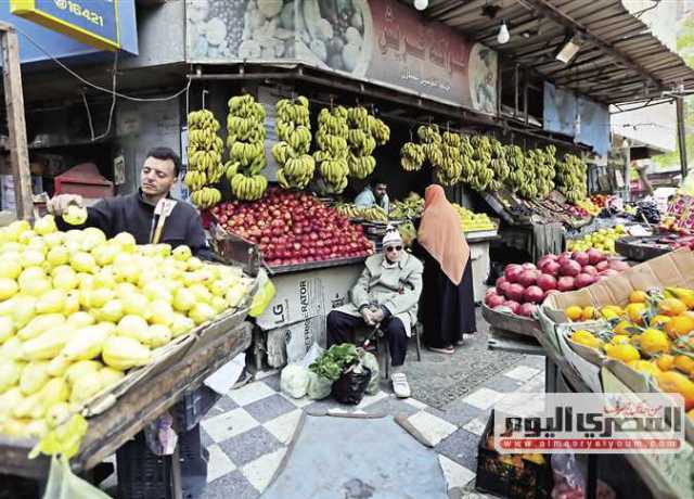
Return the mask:
[[[108,410],[88,419],[89,430],[80,451],[70,460],[73,470],[76,473],[91,470],[174,406],[184,393],[200,387],[207,376],[250,345],[250,324],[243,322],[201,348],[192,348],[169,369],[133,386]],[[35,440],[0,436],[0,473],[46,479],[50,459],[40,456],[29,460],[27,455],[34,445]]]

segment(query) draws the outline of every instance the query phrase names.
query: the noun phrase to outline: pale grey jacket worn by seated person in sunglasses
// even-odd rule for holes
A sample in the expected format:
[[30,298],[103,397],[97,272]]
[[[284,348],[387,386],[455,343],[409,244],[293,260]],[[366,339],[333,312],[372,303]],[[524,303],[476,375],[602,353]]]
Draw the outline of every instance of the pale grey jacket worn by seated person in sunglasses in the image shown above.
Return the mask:
[[422,263],[407,252],[393,268],[384,265],[382,253],[372,255],[364,263],[361,277],[351,289],[351,303],[337,310],[350,316],[360,316],[365,305],[384,306],[402,321],[408,336],[416,323],[416,311],[422,294]]

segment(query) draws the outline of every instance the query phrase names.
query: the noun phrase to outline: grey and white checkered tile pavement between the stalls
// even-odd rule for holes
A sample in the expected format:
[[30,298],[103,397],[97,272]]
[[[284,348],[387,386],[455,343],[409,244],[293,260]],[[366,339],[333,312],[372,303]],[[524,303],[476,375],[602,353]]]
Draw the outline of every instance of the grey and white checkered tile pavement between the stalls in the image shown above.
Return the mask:
[[203,445],[209,450],[208,484],[203,498],[257,498],[279,468],[301,412],[363,411],[371,414],[404,414],[435,444],[451,497],[485,497],[474,491],[477,444],[490,408],[503,394],[542,392],[543,362],[526,357],[520,364],[487,381],[464,398],[438,410],[413,398],[398,399],[384,384],[359,406],[332,399],[293,399],[280,393],[278,373],[222,397],[202,422]]

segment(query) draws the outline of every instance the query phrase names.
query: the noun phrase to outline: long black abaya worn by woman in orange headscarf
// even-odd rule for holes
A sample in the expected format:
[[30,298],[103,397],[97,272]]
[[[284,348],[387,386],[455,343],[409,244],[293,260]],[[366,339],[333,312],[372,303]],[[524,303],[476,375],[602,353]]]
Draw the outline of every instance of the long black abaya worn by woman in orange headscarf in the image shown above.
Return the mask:
[[424,264],[424,285],[420,298],[424,343],[434,348],[455,345],[463,334],[477,330],[472,259],[467,259],[463,280],[455,285],[444,273],[439,263],[416,242],[413,253]]

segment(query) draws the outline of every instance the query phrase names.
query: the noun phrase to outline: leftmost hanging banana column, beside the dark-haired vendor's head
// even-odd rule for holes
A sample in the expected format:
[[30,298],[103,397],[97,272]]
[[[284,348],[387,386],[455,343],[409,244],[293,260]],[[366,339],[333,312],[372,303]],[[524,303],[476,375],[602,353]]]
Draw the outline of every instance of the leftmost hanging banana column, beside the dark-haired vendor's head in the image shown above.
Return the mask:
[[224,174],[221,163],[224,143],[217,136],[219,128],[219,121],[208,110],[188,114],[188,171],[183,183],[198,208],[209,208],[221,201],[219,190],[206,187],[219,182]]

